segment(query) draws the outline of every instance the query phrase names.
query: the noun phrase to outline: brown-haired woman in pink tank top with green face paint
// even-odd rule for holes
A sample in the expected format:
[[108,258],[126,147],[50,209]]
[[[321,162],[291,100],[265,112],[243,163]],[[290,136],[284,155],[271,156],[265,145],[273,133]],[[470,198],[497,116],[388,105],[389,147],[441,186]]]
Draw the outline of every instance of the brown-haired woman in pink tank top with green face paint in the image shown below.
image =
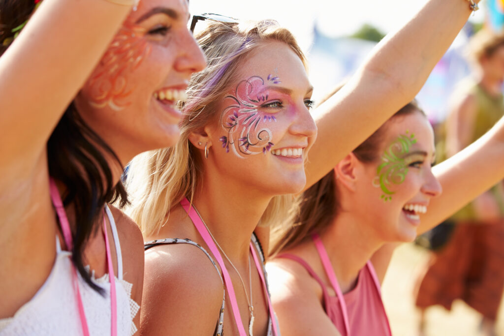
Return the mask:
[[[504,175],[504,119],[431,169],[434,136],[413,103],[301,196],[272,235],[272,302],[289,335],[391,335],[381,284],[392,252]],[[441,193],[443,190],[443,193]]]

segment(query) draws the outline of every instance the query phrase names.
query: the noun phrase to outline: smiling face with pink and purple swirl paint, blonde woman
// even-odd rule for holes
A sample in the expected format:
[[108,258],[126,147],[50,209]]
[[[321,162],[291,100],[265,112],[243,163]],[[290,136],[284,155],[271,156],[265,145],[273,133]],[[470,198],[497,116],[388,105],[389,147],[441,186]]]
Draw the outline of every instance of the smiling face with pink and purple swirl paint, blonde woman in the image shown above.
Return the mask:
[[233,183],[268,195],[298,192],[317,132],[304,65],[286,44],[267,42],[239,69],[217,106],[209,160]]

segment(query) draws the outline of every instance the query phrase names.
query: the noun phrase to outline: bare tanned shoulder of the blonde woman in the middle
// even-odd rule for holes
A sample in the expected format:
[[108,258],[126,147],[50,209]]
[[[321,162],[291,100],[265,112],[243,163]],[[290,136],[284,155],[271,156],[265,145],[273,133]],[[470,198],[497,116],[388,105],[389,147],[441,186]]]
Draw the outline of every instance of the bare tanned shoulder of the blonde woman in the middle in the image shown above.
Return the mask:
[[218,271],[197,246],[152,247],[145,253],[141,333],[211,334],[223,294]]

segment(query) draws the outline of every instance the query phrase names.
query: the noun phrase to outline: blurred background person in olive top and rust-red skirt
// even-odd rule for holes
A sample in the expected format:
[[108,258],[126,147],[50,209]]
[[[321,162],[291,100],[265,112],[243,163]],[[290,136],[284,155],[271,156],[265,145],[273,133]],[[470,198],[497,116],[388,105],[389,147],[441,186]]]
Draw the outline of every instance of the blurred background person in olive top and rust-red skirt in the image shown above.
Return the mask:
[[[504,115],[504,34],[478,32],[469,43],[473,75],[459,86],[446,120],[445,153],[451,157],[480,138]],[[451,239],[432,255],[421,279],[416,306],[421,310],[420,334],[426,308],[451,309],[462,299],[482,314],[481,334],[495,335],[494,325],[504,286],[504,203],[502,183],[484,192],[450,220]]]

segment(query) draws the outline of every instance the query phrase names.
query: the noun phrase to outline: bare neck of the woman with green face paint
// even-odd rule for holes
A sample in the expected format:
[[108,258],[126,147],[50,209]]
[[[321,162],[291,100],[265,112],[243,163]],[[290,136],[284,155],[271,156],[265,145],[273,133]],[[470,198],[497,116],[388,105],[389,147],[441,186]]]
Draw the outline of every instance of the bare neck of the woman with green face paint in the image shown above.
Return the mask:
[[383,245],[364,220],[350,212],[339,214],[321,238],[343,293],[355,287],[361,268]]

